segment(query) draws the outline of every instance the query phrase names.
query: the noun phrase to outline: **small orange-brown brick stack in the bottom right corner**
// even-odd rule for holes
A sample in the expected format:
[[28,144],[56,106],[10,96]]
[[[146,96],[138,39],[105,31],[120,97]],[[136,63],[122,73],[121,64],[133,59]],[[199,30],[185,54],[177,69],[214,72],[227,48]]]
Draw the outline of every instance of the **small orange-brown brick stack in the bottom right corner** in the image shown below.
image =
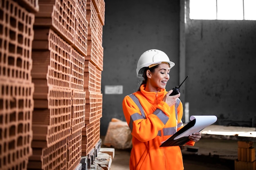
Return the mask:
[[238,159],[235,160],[235,170],[256,170],[253,142],[238,141]]

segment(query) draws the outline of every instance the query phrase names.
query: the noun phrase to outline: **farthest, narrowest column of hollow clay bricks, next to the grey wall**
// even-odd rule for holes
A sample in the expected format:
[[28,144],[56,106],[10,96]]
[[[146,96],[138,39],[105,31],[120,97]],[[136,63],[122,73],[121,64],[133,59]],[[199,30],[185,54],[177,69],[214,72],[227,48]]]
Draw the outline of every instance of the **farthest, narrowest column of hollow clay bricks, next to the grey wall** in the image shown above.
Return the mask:
[[88,51],[85,56],[84,86],[85,127],[82,129],[82,156],[88,156],[88,167],[101,146],[100,119],[102,117],[101,71],[103,71],[102,34],[105,2],[86,1],[88,21]]

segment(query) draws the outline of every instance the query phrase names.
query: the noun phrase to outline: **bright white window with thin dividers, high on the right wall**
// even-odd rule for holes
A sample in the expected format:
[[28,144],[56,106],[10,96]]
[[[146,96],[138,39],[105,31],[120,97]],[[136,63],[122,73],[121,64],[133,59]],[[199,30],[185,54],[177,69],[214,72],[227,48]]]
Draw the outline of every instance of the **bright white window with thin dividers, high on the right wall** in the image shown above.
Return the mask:
[[256,20],[256,0],[190,0],[193,20]]

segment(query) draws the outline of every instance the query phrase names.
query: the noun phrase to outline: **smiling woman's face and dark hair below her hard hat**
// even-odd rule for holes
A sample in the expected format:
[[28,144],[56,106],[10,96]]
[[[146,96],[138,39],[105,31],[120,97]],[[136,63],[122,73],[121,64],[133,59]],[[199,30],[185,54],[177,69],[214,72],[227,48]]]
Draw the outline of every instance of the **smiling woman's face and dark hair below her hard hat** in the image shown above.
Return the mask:
[[153,92],[159,92],[160,89],[164,89],[170,78],[169,73],[170,67],[166,63],[159,64],[154,72],[147,70],[148,83],[146,89]]

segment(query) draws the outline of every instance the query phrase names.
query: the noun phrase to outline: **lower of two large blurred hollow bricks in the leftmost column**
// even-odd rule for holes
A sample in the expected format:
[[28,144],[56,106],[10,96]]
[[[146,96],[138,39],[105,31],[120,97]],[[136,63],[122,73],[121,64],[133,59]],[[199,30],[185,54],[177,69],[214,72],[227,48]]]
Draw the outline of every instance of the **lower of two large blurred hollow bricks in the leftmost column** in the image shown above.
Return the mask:
[[33,84],[1,80],[0,84],[0,169],[27,167],[32,154]]

